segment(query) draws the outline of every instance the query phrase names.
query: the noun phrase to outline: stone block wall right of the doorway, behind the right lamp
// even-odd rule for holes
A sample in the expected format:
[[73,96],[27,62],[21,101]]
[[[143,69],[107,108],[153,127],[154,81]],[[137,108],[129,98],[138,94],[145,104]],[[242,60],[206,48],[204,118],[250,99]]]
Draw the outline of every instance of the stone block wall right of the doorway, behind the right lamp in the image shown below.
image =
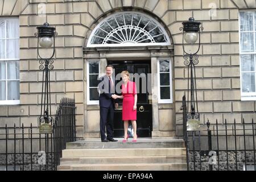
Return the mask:
[[[174,40],[176,131],[182,135],[182,96],[187,97],[187,68],[184,67],[181,22],[193,16],[204,27],[201,34],[199,64],[196,65],[197,98],[201,124],[251,122],[255,118],[255,101],[241,101],[238,13],[240,9],[255,8],[254,1],[182,1],[169,2],[163,18]],[[243,6],[244,5],[244,6]],[[197,46],[187,46],[195,50]]]

